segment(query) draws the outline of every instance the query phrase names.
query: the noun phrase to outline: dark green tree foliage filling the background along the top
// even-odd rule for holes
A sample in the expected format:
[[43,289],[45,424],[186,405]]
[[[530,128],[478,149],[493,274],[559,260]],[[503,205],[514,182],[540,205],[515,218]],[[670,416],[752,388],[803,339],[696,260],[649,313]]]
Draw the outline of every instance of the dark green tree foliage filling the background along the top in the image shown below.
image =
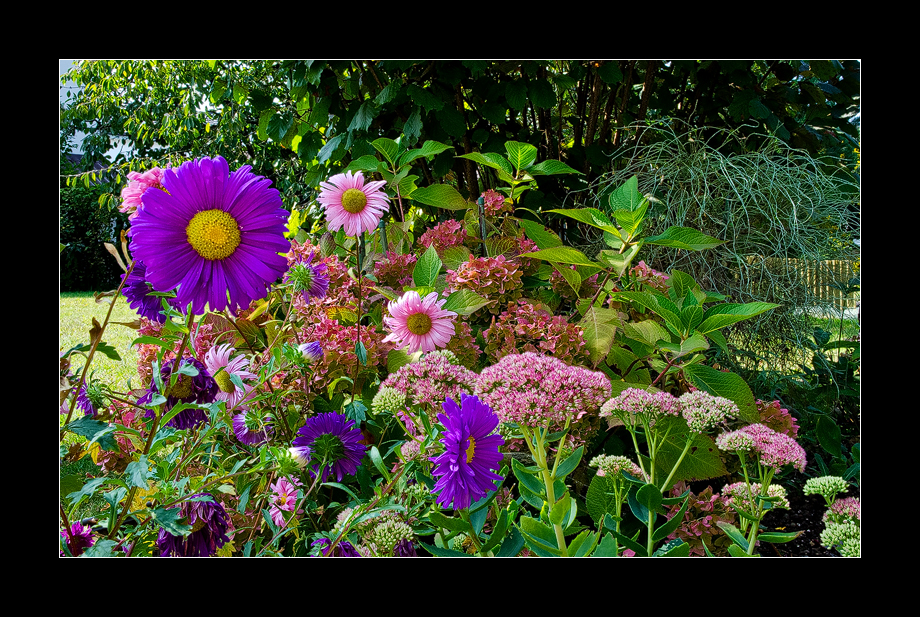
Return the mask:
[[62,152],[76,131],[88,135],[85,161],[124,146],[109,161],[110,207],[128,170],[219,154],[304,209],[320,179],[385,137],[452,146],[413,173],[419,186],[449,178],[474,198],[496,178],[462,155],[502,153],[509,140],[584,174],[542,181],[531,195],[540,208],[541,196],[558,204],[615,170],[618,147],[654,139],[643,123],[729,129],[742,137],[719,145],[729,150],[771,135],[817,154],[857,136],[859,110],[859,63],[836,60],[102,60],[67,80],[79,88],[61,108]]

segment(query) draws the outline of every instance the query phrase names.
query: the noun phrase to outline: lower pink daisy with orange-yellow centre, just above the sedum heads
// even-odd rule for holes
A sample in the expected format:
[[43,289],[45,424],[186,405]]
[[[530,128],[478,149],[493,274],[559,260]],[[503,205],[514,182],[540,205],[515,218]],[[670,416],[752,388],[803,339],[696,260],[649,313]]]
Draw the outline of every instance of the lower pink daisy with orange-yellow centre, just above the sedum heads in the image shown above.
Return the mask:
[[447,346],[456,331],[457,314],[442,309],[445,302],[446,298],[438,300],[437,292],[431,292],[423,300],[417,291],[407,291],[387,306],[390,316],[384,317],[383,323],[390,335],[383,342],[396,342],[400,347],[408,345],[409,353]]

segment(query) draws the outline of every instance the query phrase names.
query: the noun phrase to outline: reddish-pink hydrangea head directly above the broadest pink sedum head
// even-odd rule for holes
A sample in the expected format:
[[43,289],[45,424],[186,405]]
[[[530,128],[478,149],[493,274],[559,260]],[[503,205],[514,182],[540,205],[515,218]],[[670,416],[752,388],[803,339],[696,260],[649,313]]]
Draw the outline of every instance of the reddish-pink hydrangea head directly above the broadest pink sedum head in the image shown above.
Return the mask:
[[497,362],[509,354],[532,351],[555,356],[566,364],[588,361],[582,329],[526,300],[518,300],[502,312],[492,327],[483,331],[486,356]]

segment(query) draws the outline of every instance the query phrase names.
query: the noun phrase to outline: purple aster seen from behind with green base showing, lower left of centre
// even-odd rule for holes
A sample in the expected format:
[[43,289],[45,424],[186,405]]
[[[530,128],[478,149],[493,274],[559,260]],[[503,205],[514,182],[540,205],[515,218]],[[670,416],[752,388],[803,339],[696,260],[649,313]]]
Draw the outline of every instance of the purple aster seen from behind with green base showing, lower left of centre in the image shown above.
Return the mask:
[[[355,421],[337,413],[313,416],[298,429],[297,435],[293,442],[295,458],[309,459],[310,475],[322,473],[323,482],[330,472],[335,473],[336,482],[354,475],[367,451],[367,446],[361,443],[364,435]],[[319,469],[323,461],[325,464]]]

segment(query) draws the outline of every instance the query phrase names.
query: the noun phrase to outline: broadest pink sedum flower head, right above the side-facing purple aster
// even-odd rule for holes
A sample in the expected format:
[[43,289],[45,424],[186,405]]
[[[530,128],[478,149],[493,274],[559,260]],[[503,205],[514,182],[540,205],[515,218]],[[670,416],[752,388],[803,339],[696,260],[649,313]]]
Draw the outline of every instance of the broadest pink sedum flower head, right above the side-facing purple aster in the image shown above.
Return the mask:
[[475,394],[502,422],[561,431],[568,421],[577,447],[597,427],[597,410],[610,397],[610,389],[610,380],[601,372],[526,352],[507,355],[483,369]]

